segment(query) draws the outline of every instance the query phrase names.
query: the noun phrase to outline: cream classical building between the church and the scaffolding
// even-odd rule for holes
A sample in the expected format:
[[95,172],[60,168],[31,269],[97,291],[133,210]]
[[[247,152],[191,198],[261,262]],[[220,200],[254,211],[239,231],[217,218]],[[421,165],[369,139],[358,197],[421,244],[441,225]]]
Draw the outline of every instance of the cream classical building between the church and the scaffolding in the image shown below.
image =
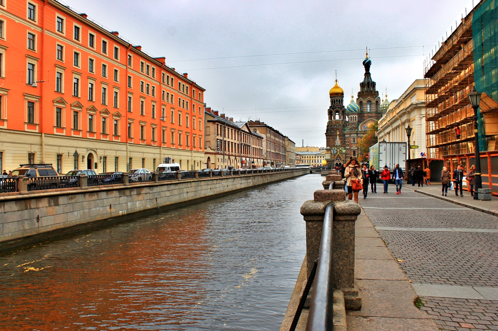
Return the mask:
[[379,141],[406,142],[406,127],[412,128],[410,145],[418,146],[411,149],[410,159],[420,158],[420,153],[427,153],[425,139],[425,85],[423,79],[417,79],[403,92],[392,100],[384,115],[378,121],[376,135]]

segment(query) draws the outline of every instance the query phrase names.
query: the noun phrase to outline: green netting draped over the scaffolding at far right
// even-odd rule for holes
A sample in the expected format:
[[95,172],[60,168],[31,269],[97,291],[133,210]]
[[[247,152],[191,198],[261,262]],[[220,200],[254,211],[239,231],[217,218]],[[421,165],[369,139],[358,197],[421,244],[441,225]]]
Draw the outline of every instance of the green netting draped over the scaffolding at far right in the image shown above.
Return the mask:
[[[479,92],[486,92],[498,102],[498,0],[486,0],[474,10],[472,39],[474,42],[474,83]],[[479,145],[486,150],[481,114]],[[483,148],[484,147],[484,148]]]

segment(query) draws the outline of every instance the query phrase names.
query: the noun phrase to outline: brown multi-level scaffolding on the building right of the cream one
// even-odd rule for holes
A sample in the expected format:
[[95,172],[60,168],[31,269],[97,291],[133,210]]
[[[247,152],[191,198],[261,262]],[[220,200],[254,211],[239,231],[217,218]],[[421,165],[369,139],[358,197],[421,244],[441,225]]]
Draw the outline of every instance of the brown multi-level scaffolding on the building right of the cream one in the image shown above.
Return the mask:
[[424,68],[429,158],[474,150],[474,109],[468,97],[474,86],[472,15],[462,18]]

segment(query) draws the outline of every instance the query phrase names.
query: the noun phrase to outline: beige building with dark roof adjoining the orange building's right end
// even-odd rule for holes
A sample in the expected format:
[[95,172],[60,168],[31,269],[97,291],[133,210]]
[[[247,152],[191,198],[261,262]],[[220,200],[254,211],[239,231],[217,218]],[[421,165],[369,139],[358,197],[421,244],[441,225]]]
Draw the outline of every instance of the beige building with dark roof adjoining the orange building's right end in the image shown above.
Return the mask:
[[206,168],[263,166],[263,137],[251,131],[247,122],[234,122],[211,107],[206,107],[204,119]]

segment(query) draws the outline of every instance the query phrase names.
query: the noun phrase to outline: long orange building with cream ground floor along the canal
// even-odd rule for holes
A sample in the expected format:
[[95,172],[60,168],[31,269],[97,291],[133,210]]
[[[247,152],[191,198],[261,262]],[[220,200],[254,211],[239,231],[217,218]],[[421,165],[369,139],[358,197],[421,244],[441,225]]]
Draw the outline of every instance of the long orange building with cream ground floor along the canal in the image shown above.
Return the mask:
[[186,73],[54,0],[0,14],[1,170],[203,167],[205,89]]

